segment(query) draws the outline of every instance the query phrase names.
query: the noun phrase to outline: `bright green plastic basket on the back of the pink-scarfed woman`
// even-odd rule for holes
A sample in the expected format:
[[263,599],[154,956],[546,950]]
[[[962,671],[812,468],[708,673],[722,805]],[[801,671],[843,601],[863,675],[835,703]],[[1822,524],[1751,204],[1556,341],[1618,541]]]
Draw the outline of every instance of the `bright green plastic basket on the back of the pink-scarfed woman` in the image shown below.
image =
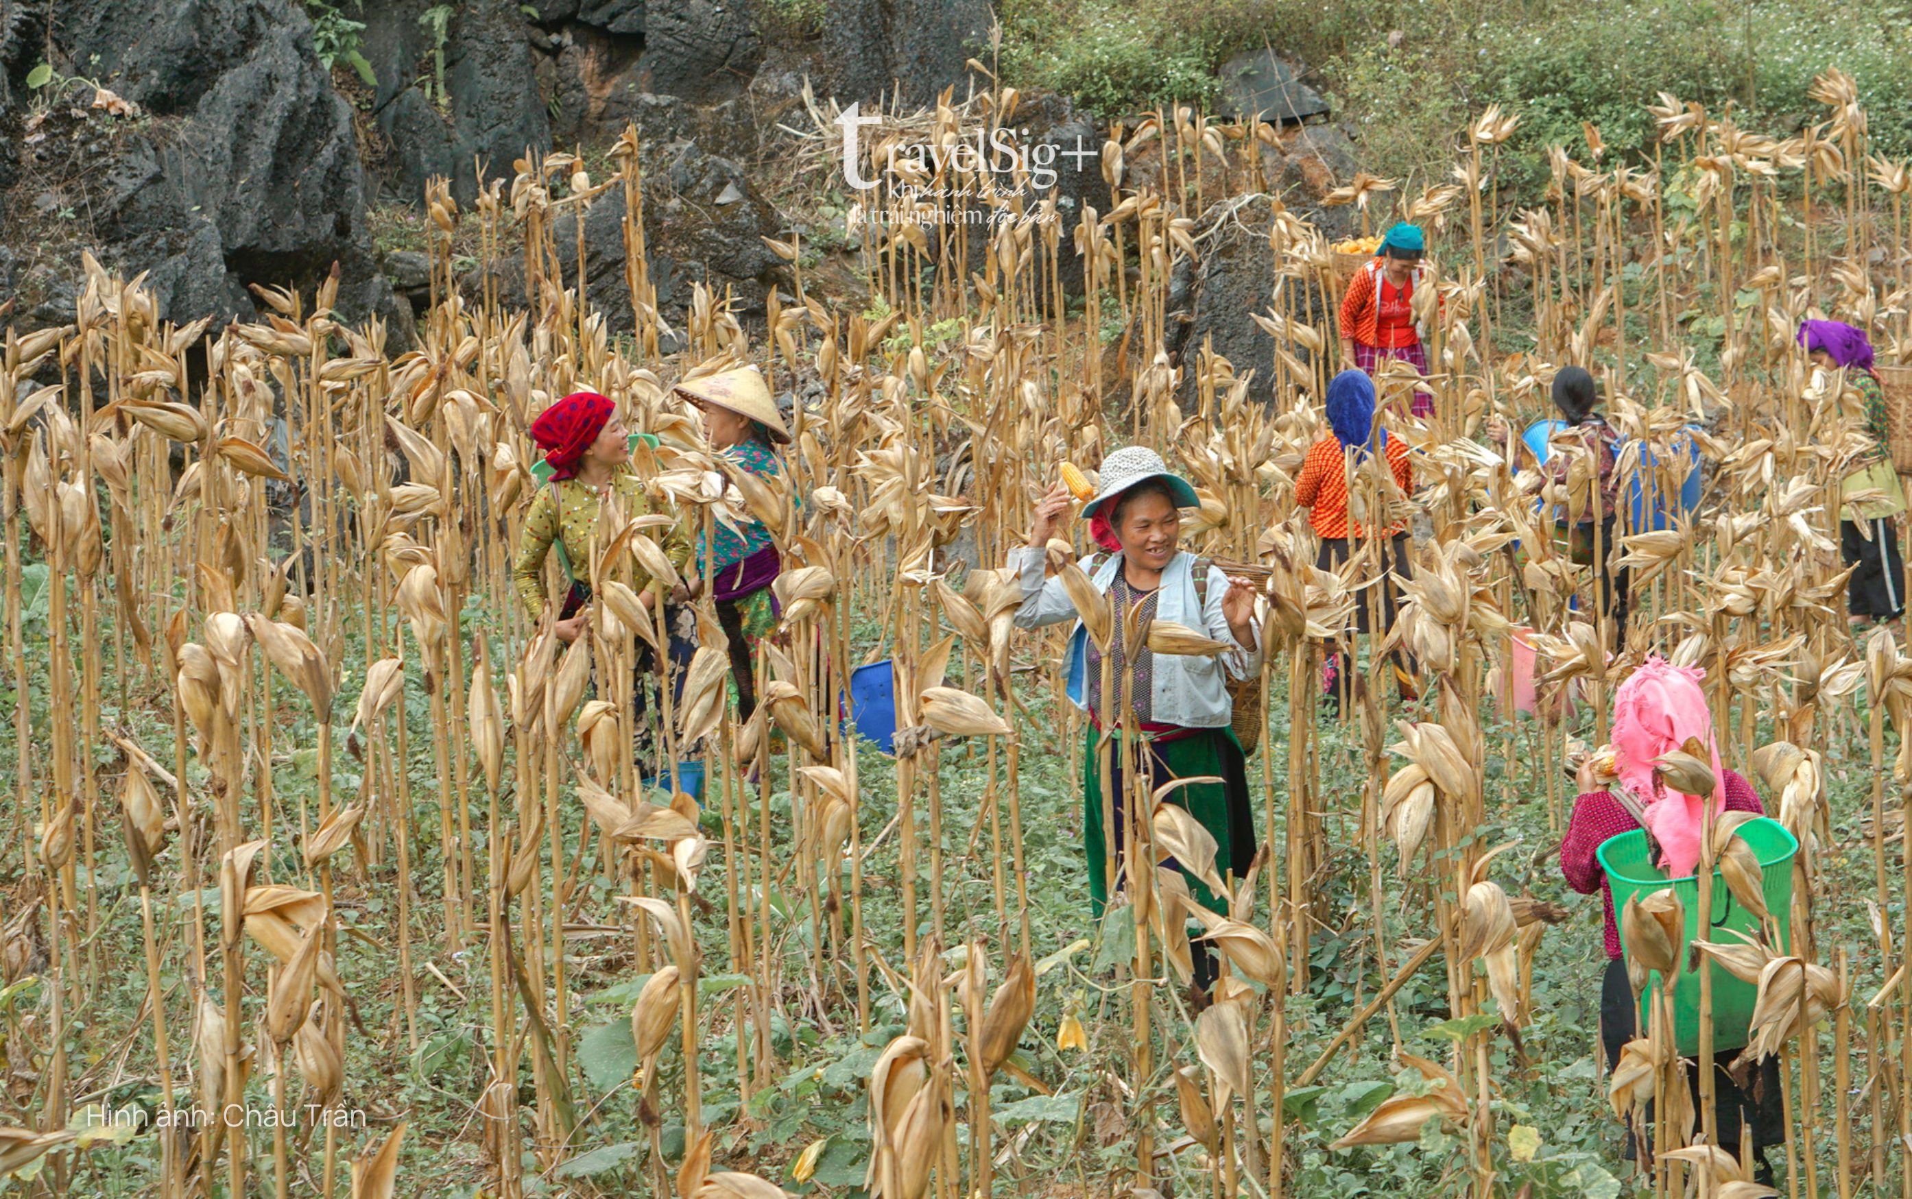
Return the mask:
[[[1792,912],[1792,862],[1793,855],[1799,853],[1799,841],[1786,832],[1784,824],[1767,817],[1740,824],[1740,836],[1759,857],[1767,910],[1772,912],[1778,924],[1780,952],[1786,952],[1786,926],[1788,912]],[[1614,889],[1616,920],[1625,912],[1627,899],[1633,895],[1644,899],[1671,885],[1686,910],[1688,945],[1692,941],[1732,945],[1738,937],[1728,929],[1749,937],[1759,935],[1759,918],[1732,897],[1732,889],[1727,887],[1727,882],[1719,874],[1713,874],[1713,927],[1707,935],[1700,935],[1700,878],[1669,880],[1663,870],[1648,861],[1644,830],[1635,828],[1618,838],[1608,838],[1595,851],[1595,857],[1600,859],[1606,882]],[[1623,922],[1619,924],[1619,947],[1623,952],[1627,950],[1627,926]],[[1673,1040],[1683,1056],[1692,1057],[1700,1052],[1700,973],[1688,970],[1688,962],[1690,954],[1683,952],[1679,977],[1673,983]],[[1658,987],[1660,971],[1652,971],[1650,987],[1640,992],[1640,1029],[1646,1027],[1648,1004],[1652,1002],[1652,991]],[[1713,1050],[1736,1050],[1746,1044],[1746,1031],[1751,1025],[1753,1000],[1757,996],[1757,987],[1742,983],[1717,964],[1713,966]]]

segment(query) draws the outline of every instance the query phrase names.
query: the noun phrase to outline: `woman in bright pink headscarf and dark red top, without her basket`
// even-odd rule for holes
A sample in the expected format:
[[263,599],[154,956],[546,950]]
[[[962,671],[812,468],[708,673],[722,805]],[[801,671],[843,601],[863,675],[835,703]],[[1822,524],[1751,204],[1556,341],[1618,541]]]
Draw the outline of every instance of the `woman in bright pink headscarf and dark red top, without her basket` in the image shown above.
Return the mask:
[[[1688,878],[1698,870],[1706,832],[1706,809],[1715,818],[1723,811],[1765,815],[1759,794],[1738,773],[1719,761],[1719,742],[1713,736],[1713,715],[1706,704],[1700,681],[1706,671],[1681,667],[1663,658],[1648,658],[1614,694],[1614,786],[1623,788],[1646,815],[1646,830],[1660,845],[1656,864],[1671,878]],[[1654,759],[1683,748],[1688,740],[1706,746],[1719,790],[1713,796],[1686,796],[1671,790],[1654,771]],[[1600,1040],[1608,1069],[1619,1063],[1619,1050],[1639,1036],[1639,1008],[1627,968],[1619,954],[1619,927],[1614,922],[1614,891],[1595,851],[1610,838],[1640,826],[1610,790],[1597,786],[1589,767],[1581,767],[1581,796],[1574,801],[1566,839],[1560,841],[1560,872],[1581,895],[1600,891],[1606,914],[1606,979],[1600,987]],[[1730,1048],[1730,1046],[1725,1046]],[[1778,1059],[1765,1059],[1748,1086],[1740,1086],[1723,1065],[1713,1065],[1713,1096],[1717,1107],[1719,1145],[1740,1151],[1740,1128],[1749,1126],[1759,1180],[1771,1182],[1772,1170],[1761,1157],[1767,1145],[1784,1140],[1784,1109],[1780,1107]],[[1700,1069],[1688,1063],[1686,1080],[1694,1103],[1700,1096]],[[1648,1109],[1652,1119],[1652,1109]],[[1637,1132],[1644,1140],[1644,1132]],[[1635,1138],[1627,1138],[1625,1159],[1637,1157]]]

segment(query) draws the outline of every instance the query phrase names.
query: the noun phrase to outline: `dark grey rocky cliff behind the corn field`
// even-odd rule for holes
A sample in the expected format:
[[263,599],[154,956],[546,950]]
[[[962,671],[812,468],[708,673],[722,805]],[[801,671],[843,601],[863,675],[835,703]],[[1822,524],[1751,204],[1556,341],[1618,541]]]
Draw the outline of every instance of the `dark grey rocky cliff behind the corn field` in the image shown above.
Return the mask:
[[[813,29],[795,31],[751,0],[367,0],[314,11],[325,27],[298,0],[0,0],[8,319],[71,319],[82,249],[145,272],[174,321],[249,317],[250,285],[310,289],[337,264],[340,314],[380,317],[403,344],[426,296],[424,256],[375,245],[369,208],[388,214],[384,226],[419,228],[423,212],[402,207],[419,205],[428,180],[447,178],[468,208],[528,153],[577,151],[602,174],[627,124],[641,136],[650,279],[667,323],[692,283],[750,316],[772,285],[790,291],[763,239],[807,235],[815,218],[765,197],[790,153],[778,122],[807,120],[805,82],[839,103],[910,109],[945,88],[960,99],[987,84],[967,61],[985,54],[990,25],[985,0],[828,0]],[[340,17],[361,23],[350,54]],[[331,69],[321,44],[337,55]],[[1317,212],[1354,170],[1348,140],[1317,122],[1319,96],[1266,50],[1222,78],[1229,111],[1315,120],[1268,147],[1266,176],[1291,208]],[[1017,124],[1057,147],[1099,149],[1107,136],[1061,96],[1025,96]],[[1050,195],[1071,226],[1084,205],[1107,212],[1099,155],[1063,163],[1031,199]],[[621,212],[612,189],[581,218],[587,293],[614,327],[631,319]],[[568,210],[556,229],[568,277],[577,222]],[[1214,337],[1249,365],[1268,356],[1249,321],[1266,264],[1218,251],[1178,270],[1178,333],[1187,346]],[[1080,294],[1073,239],[1059,252],[1059,283]],[[459,270],[524,298],[514,254]]]

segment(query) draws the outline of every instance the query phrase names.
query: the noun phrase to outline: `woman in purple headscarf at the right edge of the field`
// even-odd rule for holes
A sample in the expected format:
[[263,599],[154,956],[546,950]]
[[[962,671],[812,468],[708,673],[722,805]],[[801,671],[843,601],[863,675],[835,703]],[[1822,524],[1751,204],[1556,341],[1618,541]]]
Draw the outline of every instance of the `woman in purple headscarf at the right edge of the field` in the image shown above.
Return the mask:
[[1814,365],[1813,388],[1841,398],[1857,396],[1872,436],[1872,446],[1853,459],[1851,470],[1839,480],[1843,495],[1868,493],[1866,499],[1839,505],[1839,551],[1853,568],[1845,581],[1845,608],[1855,627],[1874,620],[1899,620],[1906,606],[1906,568],[1893,516],[1906,505],[1899,476],[1885,457],[1885,388],[1872,373],[1872,342],[1864,331],[1841,321],[1805,321],[1799,325],[1799,344]]

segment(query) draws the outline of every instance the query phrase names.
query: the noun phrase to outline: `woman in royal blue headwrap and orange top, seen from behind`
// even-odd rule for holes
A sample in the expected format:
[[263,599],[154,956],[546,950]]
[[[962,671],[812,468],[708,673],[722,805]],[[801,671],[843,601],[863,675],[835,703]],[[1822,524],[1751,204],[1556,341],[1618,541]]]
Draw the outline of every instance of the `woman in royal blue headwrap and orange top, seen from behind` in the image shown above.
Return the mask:
[[[1348,484],[1361,480],[1354,490],[1356,507],[1379,503],[1380,511],[1386,512],[1394,507],[1396,493],[1405,495],[1413,490],[1407,444],[1390,438],[1388,430],[1375,421],[1375,382],[1361,371],[1342,371],[1329,381],[1327,423],[1333,434],[1310,446],[1308,457],[1302,459],[1302,472],[1294,480],[1294,503],[1308,509],[1308,524],[1321,537],[1321,553],[1315,558],[1315,566],[1321,570],[1335,570],[1350,555],[1365,553],[1363,541],[1375,547],[1379,555],[1375,572],[1382,578],[1379,583],[1380,620],[1382,629],[1386,629],[1394,625],[1396,587],[1392,576],[1403,579],[1411,576],[1407,530],[1400,518],[1394,518],[1380,530],[1379,537],[1371,539],[1367,528],[1350,516]],[[1386,461],[1388,470],[1373,469],[1377,461]],[[1363,472],[1367,478],[1361,478]],[[1356,629],[1371,631],[1365,593],[1354,608],[1354,620]],[[1340,681],[1346,677],[1348,665],[1348,656],[1335,652],[1323,669],[1321,685],[1336,709],[1342,696]],[[1394,679],[1401,696],[1411,698],[1415,692],[1413,677],[1401,669],[1400,658],[1396,658]]]

